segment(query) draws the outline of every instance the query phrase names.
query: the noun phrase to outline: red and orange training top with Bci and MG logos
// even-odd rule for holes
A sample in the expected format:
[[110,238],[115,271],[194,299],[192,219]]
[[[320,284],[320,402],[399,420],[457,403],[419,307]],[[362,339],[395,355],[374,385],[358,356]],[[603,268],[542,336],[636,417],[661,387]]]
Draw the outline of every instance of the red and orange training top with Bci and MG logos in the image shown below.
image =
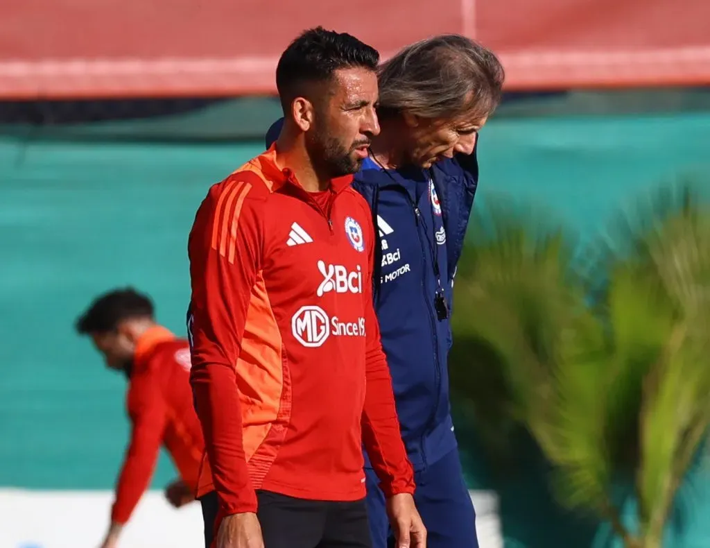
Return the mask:
[[[364,498],[364,442],[386,494],[413,493],[372,304],[375,235],[350,177],[329,211],[272,149],[209,190],[190,233],[192,372],[222,513],[255,489]],[[207,466],[204,467],[207,471]]]

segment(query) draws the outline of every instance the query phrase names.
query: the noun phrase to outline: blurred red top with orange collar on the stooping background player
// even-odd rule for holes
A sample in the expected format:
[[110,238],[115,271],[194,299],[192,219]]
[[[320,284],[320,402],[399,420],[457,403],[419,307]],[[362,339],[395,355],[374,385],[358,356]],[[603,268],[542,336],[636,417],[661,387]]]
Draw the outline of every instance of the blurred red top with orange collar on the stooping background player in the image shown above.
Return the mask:
[[138,340],[126,407],[131,441],[116,485],[111,520],[125,523],[148,488],[165,446],[182,480],[195,490],[204,451],[202,429],[192,404],[190,348],[156,326]]

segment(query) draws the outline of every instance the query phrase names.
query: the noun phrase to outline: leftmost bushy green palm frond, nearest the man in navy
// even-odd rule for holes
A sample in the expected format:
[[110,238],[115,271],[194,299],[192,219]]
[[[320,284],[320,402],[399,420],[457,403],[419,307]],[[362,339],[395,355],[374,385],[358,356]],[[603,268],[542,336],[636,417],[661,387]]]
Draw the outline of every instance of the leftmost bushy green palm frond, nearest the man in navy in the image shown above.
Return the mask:
[[452,394],[488,425],[479,433],[496,458],[510,432],[544,414],[555,340],[584,306],[567,281],[574,244],[551,218],[511,202],[478,208],[459,264]]

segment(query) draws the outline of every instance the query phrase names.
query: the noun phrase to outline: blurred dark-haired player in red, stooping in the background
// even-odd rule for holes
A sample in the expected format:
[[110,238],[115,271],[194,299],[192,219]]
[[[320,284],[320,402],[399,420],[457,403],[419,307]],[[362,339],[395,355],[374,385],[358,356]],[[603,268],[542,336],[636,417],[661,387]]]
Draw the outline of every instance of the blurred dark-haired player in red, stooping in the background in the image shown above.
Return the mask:
[[153,303],[133,289],[99,296],[76,327],[81,335],[91,336],[106,365],[124,372],[129,380],[126,404],[131,441],[102,544],[102,548],[113,548],[151,483],[161,445],[180,473],[165,496],[175,507],[194,500],[204,441],[192,402],[190,348],[186,340],[155,323]]

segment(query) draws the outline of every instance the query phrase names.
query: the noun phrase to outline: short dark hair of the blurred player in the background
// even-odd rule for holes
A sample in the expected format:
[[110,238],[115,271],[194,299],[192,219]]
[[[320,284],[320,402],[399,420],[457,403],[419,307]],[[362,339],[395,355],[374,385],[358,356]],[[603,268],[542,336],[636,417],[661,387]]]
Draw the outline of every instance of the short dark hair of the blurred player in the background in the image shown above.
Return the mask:
[[115,331],[122,321],[133,318],[153,319],[153,302],[132,287],[114,289],[92,301],[87,311],[77,319],[77,333],[109,333]]

